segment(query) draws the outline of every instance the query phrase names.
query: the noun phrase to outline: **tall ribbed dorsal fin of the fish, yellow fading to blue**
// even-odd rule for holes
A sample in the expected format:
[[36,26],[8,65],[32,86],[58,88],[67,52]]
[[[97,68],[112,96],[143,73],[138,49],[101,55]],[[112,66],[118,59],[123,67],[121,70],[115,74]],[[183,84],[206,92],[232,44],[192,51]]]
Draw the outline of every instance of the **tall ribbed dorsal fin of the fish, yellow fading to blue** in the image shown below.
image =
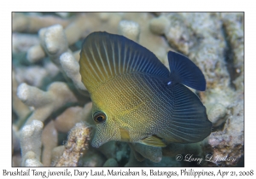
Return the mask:
[[170,75],[148,49],[108,32],[93,32],[84,39],[79,64],[82,81],[89,91],[124,73],[142,72],[164,78]]

